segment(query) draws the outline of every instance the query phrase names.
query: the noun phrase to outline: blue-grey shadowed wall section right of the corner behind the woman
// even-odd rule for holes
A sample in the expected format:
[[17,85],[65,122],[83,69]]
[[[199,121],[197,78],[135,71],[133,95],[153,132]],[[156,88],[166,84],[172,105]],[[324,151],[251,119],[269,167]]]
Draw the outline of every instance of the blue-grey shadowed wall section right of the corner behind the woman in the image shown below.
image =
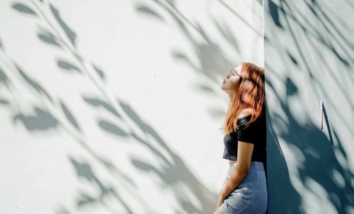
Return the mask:
[[353,14],[264,1],[268,213],[354,213]]

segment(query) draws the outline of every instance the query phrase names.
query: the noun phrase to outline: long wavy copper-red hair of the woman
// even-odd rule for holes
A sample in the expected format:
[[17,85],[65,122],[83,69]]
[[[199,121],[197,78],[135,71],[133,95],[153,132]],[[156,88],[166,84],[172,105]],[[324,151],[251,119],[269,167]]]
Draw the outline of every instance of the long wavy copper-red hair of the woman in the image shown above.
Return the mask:
[[245,61],[242,63],[239,74],[241,76],[239,90],[231,100],[222,126],[222,132],[225,134],[239,129],[237,118],[243,109],[250,108],[252,110],[251,120],[244,124],[248,126],[261,116],[263,107],[265,107],[264,69]]

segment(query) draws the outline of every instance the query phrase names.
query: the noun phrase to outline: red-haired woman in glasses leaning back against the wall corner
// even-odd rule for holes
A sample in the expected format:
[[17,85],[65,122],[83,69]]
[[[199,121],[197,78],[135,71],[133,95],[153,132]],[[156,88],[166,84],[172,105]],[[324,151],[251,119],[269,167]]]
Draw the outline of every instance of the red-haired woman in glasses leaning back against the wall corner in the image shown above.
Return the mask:
[[221,88],[230,99],[222,128],[229,171],[214,214],[264,214],[268,205],[264,69],[244,62],[227,73]]

